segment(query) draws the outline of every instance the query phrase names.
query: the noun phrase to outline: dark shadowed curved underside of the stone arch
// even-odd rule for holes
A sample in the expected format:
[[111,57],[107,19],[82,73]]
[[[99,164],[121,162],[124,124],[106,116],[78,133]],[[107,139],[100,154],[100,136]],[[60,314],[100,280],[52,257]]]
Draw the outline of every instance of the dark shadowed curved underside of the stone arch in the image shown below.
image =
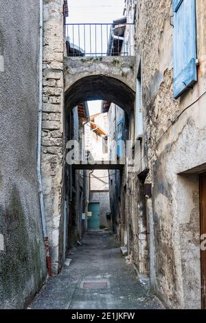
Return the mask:
[[133,113],[135,91],[117,78],[94,75],[80,78],[65,93],[67,110],[89,100],[108,100],[117,104],[129,115]]

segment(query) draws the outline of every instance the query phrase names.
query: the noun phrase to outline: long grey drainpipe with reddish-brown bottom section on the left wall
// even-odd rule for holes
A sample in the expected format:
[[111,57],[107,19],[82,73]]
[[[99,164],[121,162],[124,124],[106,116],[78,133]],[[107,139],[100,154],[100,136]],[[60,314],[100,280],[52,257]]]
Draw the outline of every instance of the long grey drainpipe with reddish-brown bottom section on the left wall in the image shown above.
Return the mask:
[[40,21],[39,21],[39,56],[38,56],[38,142],[37,142],[37,175],[38,175],[38,194],[41,207],[41,221],[43,226],[43,237],[45,241],[47,270],[49,276],[52,276],[51,258],[49,256],[49,238],[47,234],[47,225],[45,220],[45,207],[43,198],[43,186],[41,177],[41,130],[43,114],[43,0],[39,1]]

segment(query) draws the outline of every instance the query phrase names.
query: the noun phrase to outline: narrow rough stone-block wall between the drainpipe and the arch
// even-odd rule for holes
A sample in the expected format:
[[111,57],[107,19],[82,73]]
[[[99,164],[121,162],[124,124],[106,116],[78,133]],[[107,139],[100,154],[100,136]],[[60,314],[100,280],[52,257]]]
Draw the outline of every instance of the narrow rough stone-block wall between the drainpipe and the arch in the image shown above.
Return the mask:
[[[42,175],[52,271],[62,254],[63,0],[44,1]],[[60,243],[60,244],[59,244]]]

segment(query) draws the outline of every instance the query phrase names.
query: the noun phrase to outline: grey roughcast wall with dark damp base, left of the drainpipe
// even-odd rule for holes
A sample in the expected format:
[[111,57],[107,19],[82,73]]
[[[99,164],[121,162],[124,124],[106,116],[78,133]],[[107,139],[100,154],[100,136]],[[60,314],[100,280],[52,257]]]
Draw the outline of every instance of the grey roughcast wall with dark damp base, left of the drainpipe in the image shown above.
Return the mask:
[[39,1],[1,1],[0,12],[0,308],[22,309],[47,276],[36,175]]

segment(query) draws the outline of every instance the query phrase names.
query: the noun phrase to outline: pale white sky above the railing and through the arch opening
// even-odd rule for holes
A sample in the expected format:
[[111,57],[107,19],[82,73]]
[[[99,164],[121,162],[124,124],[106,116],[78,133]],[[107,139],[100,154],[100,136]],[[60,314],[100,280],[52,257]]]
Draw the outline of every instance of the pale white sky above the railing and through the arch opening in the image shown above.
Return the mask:
[[[112,23],[123,16],[124,0],[68,0],[67,23]],[[101,111],[101,101],[90,101],[89,113]]]

